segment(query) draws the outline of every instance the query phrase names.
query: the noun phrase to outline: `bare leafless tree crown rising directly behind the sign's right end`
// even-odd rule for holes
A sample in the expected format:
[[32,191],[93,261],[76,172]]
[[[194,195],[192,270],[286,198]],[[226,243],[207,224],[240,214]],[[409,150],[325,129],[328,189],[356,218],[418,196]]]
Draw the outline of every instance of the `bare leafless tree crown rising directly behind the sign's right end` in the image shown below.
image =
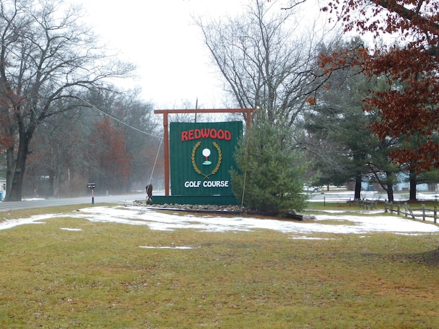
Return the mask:
[[320,38],[305,33],[294,11],[281,10],[276,1],[253,0],[232,18],[194,20],[237,106],[260,108],[269,121],[294,125],[316,88],[311,65]]

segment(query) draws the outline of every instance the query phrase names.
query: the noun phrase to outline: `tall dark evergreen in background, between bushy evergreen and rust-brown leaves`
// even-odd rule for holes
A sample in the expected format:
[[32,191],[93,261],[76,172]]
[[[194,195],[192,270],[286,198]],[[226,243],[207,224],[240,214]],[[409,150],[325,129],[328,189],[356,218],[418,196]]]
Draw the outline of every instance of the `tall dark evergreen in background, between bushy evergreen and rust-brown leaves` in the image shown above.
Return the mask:
[[[347,46],[349,45],[349,46]],[[337,49],[364,49],[360,38],[334,45],[322,45],[322,56]],[[346,56],[353,56],[353,53]],[[381,77],[368,77],[357,67],[346,66],[332,71],[324,88],[316,93],[313,112],[307,118],[307,149],[316,154],[319,181],[337,184],[340,180],[355,182],[355,199],[360,198],[361,182],[374,175],[388,199],[393,200],[393,184],[399,166],[390,162],[390,151],[397,141],[380,141],[370,130],[379,121],[377,112],[364,112],[370,90],[388,88]]]

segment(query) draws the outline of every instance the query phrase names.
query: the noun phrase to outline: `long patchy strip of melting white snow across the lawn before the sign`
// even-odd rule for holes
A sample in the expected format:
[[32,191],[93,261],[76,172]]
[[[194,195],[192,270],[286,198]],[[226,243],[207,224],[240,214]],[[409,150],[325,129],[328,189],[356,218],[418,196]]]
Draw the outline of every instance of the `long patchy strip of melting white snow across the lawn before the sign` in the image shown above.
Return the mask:
[[[251,231],[257,229],[298,234],[305,239],[306,234],[337,233],[367,234],[371,232],[394,232],[395,234],[438,233],[439,226],[428,222],[413,221],[403,217],[381,216],[377,212],[364,215],[324,212],[313,221],[282,221],[278,219],[258,219],[254,217],[191,215],[185,212],[160,212],[139,206],[131,207],[91,207],[63,214],[38,215],[25,219],[11,219],[0,222],[0,230],[15,226],[42,223],[51,218],[72,217],[88,221],[123,223],[147,226],[151,230],[193,229],[206,232]],[[62,230],[80,231],[80,225]],[[292,238],[294,239],[294,237]]]

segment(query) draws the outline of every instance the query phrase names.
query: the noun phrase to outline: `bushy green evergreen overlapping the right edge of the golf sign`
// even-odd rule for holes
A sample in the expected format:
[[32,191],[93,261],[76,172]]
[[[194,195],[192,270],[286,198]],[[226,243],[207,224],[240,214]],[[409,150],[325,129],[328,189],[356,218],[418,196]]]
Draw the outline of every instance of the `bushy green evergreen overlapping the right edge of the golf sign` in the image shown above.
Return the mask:
[[285,125],[261,119],[261,114],[253,120],[235,152],[239,171],[231,173],[234,193],[239,200],[244,196],[244,206],[278,216],[304,208],[305,161],[291,136]]

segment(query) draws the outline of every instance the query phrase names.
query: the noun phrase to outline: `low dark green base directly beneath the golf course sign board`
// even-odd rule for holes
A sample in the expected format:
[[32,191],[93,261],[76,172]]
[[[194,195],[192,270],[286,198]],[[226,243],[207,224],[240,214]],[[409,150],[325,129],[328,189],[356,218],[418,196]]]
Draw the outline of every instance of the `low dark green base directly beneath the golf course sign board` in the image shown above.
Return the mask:
[[239,204],[235,195],[154,195],[152,204]]

